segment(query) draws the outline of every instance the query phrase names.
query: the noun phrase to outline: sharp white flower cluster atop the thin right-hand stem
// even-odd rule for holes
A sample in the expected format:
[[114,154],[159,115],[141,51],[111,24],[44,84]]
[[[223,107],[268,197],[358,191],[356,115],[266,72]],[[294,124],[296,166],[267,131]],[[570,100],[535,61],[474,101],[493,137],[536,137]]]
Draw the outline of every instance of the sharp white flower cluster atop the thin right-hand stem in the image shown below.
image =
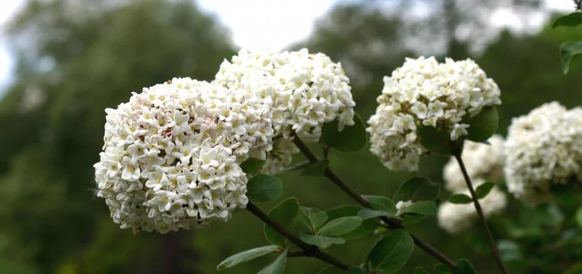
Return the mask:
[[472,60],[407,58],[392,76],[384,77],[376,114],[368,120],[370,151],[388,169],[416,171],[427,149],[416,134],[419,127],[451,132],[451,140],[467,134],[461,123],[485,106],[499,105],[501,91]]

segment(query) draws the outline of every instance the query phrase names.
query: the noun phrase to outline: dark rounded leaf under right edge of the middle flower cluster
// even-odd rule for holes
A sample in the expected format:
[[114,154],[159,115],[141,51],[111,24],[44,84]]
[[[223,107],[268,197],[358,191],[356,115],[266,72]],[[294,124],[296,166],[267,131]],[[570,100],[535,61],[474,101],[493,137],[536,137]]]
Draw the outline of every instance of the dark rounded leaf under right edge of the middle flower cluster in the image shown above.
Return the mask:
[[354,122],[354,125],[344,127],[341,132],[338,131],[337,120],[326,123],[323,126],[319,142],[342,152],[359,151],[366,146],[368,134],[366,134],[366,126],[358,114],[354,115]]

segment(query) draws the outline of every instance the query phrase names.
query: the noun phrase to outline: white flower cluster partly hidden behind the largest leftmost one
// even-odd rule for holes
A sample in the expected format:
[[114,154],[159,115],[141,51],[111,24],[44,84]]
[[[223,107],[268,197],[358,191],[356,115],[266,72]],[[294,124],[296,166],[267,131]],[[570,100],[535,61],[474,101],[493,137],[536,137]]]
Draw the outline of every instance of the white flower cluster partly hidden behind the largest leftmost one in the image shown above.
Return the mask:
[[340,130],[354,124],[349,78],[323,53],[241,50],[220,65],[214,82],[260,97],[272,112],[275,135],[317,142],[325,123],[338,119]]

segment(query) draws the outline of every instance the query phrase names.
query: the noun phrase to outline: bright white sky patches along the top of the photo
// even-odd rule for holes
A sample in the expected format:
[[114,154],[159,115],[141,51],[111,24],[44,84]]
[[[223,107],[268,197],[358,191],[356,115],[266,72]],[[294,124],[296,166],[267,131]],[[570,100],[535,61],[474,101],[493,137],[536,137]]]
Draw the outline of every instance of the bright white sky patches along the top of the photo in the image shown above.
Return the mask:
[[[199,0],[203,10],[214,14],[231,30],[233,42],[245,49],[278,51],[292,42],[311,34],[314,24],[334,4],[350,0]],[[553,10],[572,10],[572,0],[545,0]],[[23,8],[25,0],[0,0],[0,93],[10,84],[14,58],[1,34],[10,18]],[[534,18],[530,25],[523,22],[509,8],[499,8],[491,16],[499,27],[527,29],[541,25],[544,18]],[[268,34],[268,35],[266,35]]]

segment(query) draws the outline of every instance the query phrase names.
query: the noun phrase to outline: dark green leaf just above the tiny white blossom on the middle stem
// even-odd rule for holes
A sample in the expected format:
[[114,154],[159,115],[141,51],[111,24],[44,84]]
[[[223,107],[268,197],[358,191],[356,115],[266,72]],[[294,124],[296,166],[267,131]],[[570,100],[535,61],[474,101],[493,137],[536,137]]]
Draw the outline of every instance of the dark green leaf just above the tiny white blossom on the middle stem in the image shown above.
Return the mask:
[[429,179],[412,177],[396,190],[394,201],[434,201],[438,197],[438,191],[438,184]]

